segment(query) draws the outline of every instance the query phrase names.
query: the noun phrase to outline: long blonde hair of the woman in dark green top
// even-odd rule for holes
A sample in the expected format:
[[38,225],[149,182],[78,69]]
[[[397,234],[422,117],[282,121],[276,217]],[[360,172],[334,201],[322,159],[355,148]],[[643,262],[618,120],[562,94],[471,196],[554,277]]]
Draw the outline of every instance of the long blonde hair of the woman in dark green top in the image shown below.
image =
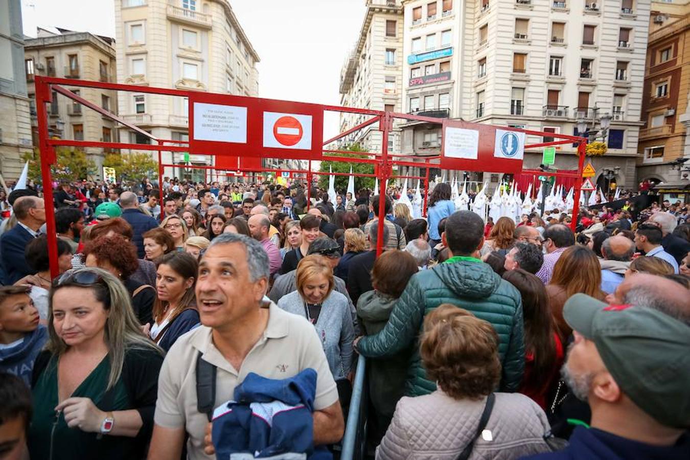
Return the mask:
[[[82,272],[97,274],[100,280],[90,286],[81,286],[76,282],[70,283],[69,277],[75,277]],[[108,347],[108,359],[110,360],[110,375],[108,376],[106,391],[115,386],[120,379],[127,350],[155,350],[161,355],[163,354],[163,350],[150,341],[144,332],[141,332],[141,326],[132,308],[130,294],[115,275],[102,268],[81,268],[66,272],[60,279],[66,279],[66,282],[57,284],[50,290],[46,350],[59,358],[69,349],[67,343],[55,332],[52,310],[55,292],[61,288],[74,287],[92,290],[96,300],[103,303],[103,308],[109,312],[103,337]]]

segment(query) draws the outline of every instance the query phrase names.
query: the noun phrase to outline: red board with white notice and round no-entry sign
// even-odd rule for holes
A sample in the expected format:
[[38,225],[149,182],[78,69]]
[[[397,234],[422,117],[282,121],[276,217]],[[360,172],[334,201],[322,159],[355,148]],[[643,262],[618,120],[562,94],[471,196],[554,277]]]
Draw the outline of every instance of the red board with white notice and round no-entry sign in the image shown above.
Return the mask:
[[189,150],[235,157],[322,158],[324,106],[221,94],[189,98]]

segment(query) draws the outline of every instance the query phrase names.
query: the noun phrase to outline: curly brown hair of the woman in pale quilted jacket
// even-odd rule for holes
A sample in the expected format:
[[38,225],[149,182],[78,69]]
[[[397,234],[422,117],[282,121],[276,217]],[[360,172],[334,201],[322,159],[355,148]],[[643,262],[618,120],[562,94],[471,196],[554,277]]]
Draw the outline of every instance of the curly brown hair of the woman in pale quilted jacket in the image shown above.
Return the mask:
[[424,318],[420,356],[427,376],[454,399],[482,399],[501,378],[493,326],[450,303]]

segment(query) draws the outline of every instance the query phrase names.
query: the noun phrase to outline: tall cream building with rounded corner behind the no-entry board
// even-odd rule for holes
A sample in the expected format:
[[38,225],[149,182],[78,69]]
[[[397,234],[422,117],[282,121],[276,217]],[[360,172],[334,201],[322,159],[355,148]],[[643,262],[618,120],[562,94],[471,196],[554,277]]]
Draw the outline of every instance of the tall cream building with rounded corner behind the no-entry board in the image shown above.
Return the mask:
[[[118,83],[258,95],[259,56],[228,0],[115,0],[115,30]],[[125,121],[159,139],[188,140],[187,98],[119,92],[117,104]],[[148,143],[130,130],[121,130],[120,137]],[[203,170],[184,168],[184,158],[163,152],[164,163],[181,165],[164,174],[204,180]],[[190,156],[192,164],[214,161]]]

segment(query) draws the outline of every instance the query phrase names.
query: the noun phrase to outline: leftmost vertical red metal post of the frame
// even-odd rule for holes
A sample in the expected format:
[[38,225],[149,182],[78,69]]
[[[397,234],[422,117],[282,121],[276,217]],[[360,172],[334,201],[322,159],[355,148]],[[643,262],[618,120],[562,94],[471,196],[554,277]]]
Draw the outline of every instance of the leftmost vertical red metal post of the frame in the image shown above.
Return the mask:
[[41,77],[36,77],[36,114],[39,124],[39,154],[41,155],[41,180],[43,181],[43,203],[46,206],[46,232],[48,237],[48,266],[50,278],[60,274],[57,261],[57,230],[55,230],[55,208],[52,197],[50,167],[56,161],[55,150],[48,145],[48,113],[46,103],[51,101],[50,88]]

